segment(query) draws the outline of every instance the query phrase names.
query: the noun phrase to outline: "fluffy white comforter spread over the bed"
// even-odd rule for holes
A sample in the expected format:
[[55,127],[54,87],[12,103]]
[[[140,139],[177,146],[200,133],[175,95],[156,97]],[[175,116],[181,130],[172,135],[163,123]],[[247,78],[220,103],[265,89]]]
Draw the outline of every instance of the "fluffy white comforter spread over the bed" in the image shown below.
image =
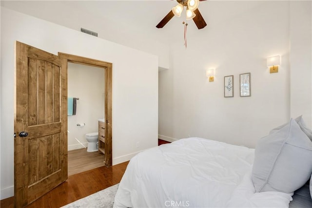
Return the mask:
[[[246,194],[238,185],[251,171],[253,161],[254,149],[203,138],[161,145],[131,159],[120,181],[114,207],[252,206],[252,201],[241,204],[242,199],[236,200],[233,193],[248,195],[240,197],[243,200],[252,198],[253,186],[246,185],[247,189],[252,187],[252,193]],[[281,193],[281,197],[285,201],[281,207],[288,207],[291,196]],[[271,206],[261,200],[261,206],[264,205]]]

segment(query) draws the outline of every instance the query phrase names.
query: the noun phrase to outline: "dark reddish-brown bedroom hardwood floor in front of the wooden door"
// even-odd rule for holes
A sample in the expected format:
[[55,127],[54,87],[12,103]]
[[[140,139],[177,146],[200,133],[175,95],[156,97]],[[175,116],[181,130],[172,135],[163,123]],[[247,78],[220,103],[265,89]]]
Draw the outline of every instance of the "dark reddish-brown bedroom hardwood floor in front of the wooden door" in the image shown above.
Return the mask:
[[[31,203],[27,208],[59,208],[120,182],[128,162],[102,166],[68,176],[68,179]],[[14,197],[1,200],[1,208],[13,208]]]

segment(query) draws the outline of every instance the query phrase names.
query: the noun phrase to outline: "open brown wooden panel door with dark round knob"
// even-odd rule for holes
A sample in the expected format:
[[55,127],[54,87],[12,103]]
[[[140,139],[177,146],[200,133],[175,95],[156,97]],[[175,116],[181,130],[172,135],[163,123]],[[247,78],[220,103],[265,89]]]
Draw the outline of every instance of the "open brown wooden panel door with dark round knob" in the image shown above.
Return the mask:
[[67,72],[17,41],[15,74],[14,199],[25,207],[67,179]]

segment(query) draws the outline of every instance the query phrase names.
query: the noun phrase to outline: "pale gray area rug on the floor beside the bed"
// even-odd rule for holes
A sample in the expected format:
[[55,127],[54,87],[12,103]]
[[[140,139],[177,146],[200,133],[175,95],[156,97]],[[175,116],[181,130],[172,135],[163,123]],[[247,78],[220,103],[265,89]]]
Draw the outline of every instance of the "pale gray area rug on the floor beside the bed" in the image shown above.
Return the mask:
[[112,208],[119,184],[79,199],[62,208]]

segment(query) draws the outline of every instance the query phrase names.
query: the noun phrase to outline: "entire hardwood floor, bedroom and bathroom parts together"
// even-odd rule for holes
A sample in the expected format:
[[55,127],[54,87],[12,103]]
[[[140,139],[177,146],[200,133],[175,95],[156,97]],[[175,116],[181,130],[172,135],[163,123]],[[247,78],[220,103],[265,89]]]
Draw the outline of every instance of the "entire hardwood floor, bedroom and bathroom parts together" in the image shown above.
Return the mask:
[[[158,146],[167,143],[170,142],[158,139]],[[87,159],[86,154],[92,157]],[[119,183],[129,161],[107,168],[103,158],[103,154],[87,152],[86,149],[68,151],[68,179],[27,208],[59,208]],[[88,164],[90,160],[94,163],[91,166]],[[81,163],[84,165],[81,166]],[[96,165],[101,167],[93,169]],[[0,207],[13,208],[14,197],[1,200]]]

